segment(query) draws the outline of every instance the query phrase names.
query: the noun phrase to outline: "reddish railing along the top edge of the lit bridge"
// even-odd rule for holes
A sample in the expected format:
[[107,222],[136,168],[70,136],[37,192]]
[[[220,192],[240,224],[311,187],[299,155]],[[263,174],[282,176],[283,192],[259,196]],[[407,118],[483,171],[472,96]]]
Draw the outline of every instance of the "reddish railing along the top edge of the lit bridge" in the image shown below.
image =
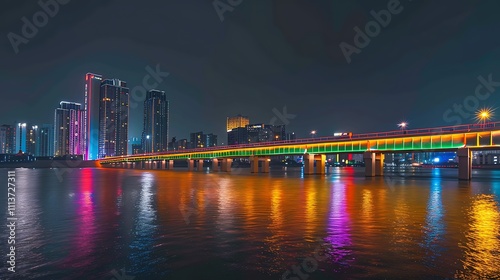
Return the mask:
[[[376,138],[385,137],[411,137],[411,136],[421,136],[421,135],[437,135],[443,133],[466,133],[466,132],[478,132],[485,130],[492,130],[494,128],[500,129],[500,122],[489,122],[484,124],[464,124],[455,126],[444,126],[435,128],[418,128],[418,129],[407,129],[407,130],[394,130],[386,132],[373,132],[373,133],[360,133],[352,134],[351,136],[324,136],[315,138],[299,138],[295,140],[281,140],[281,141],[270,141],[270,142],[258,142],[250,144],[238,144],[238,145],[225,145],[225,146],[214,146],[206,148],[194,148],[194,149],[183,149],[168,152],[159,152],[151,154],[133,155],[133,156],[154,156],[154,155],[165,155],[165,154],[183,154],[183,153],[196,153],[196,152],[209,152],[214,150],[228,150],[236,148],[258,148],[263,146],[278,146],[283,144],[301,144],[301,143],[321,143],[321,142],[342,142],[347,140],[369,140]],[[125,157],[125,156],[122,156]],[[115,157],[120,158],[120,157]],[[109,158],[107,158],[109,159]]]

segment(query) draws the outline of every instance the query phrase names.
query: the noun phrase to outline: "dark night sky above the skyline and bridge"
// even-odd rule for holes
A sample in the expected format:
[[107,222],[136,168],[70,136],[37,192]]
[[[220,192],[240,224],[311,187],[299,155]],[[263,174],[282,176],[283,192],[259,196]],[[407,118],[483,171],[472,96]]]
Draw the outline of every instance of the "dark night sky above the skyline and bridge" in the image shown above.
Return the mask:
[[[22,36],[21,19],[43,10],[3,1],[0,123],[52,122],[61,100],[83,103],[85,73],[132,89],[148,65],[170,73],[158,88],[177,139],[203,130],[225,142],[226,116],[269,123],[285,106],[295,115],[287,130],[307,137],[392,130],[403,120],[410,128],[472,122],[447,110],[500,104],[500,89],[474,103],[478,76],[500,81],[499,1],[402,0],[351,63],[340,43],[354,45],[354,28],[393,0],[242,0],[224,21],[211,0],[65,1],[17,54],[9,33]],[[140,136],[142,114],[142,105],[131,109],[130,137]]]

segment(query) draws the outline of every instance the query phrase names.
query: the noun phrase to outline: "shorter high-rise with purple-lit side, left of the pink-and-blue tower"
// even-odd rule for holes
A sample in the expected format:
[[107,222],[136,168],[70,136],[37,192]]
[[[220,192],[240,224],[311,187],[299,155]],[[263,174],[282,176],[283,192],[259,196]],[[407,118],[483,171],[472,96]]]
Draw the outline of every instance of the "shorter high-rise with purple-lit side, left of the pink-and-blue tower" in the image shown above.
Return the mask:
[[82,105],[61,101],[54,113],[54,155],[83,155],[84,111]]

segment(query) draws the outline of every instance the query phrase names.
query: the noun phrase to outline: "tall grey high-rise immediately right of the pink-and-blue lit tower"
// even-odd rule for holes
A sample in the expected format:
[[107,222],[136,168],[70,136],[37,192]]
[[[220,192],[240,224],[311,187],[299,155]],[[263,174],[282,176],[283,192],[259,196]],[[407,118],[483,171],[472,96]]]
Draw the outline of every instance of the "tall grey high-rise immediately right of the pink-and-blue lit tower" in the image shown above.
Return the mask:
[[118,79],[106,79],[101,84],[99,96],[98,157],[127,155],[129,121],[127,83]]

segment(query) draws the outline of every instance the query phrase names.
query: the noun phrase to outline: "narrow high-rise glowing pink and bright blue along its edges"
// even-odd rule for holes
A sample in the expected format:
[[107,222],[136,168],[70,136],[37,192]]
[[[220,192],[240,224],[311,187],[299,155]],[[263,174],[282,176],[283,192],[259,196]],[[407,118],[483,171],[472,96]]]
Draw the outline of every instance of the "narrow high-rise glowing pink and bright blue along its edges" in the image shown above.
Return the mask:
[[102,76],[85,75],[84,159],[95,160],[99,154],[99,106]]

